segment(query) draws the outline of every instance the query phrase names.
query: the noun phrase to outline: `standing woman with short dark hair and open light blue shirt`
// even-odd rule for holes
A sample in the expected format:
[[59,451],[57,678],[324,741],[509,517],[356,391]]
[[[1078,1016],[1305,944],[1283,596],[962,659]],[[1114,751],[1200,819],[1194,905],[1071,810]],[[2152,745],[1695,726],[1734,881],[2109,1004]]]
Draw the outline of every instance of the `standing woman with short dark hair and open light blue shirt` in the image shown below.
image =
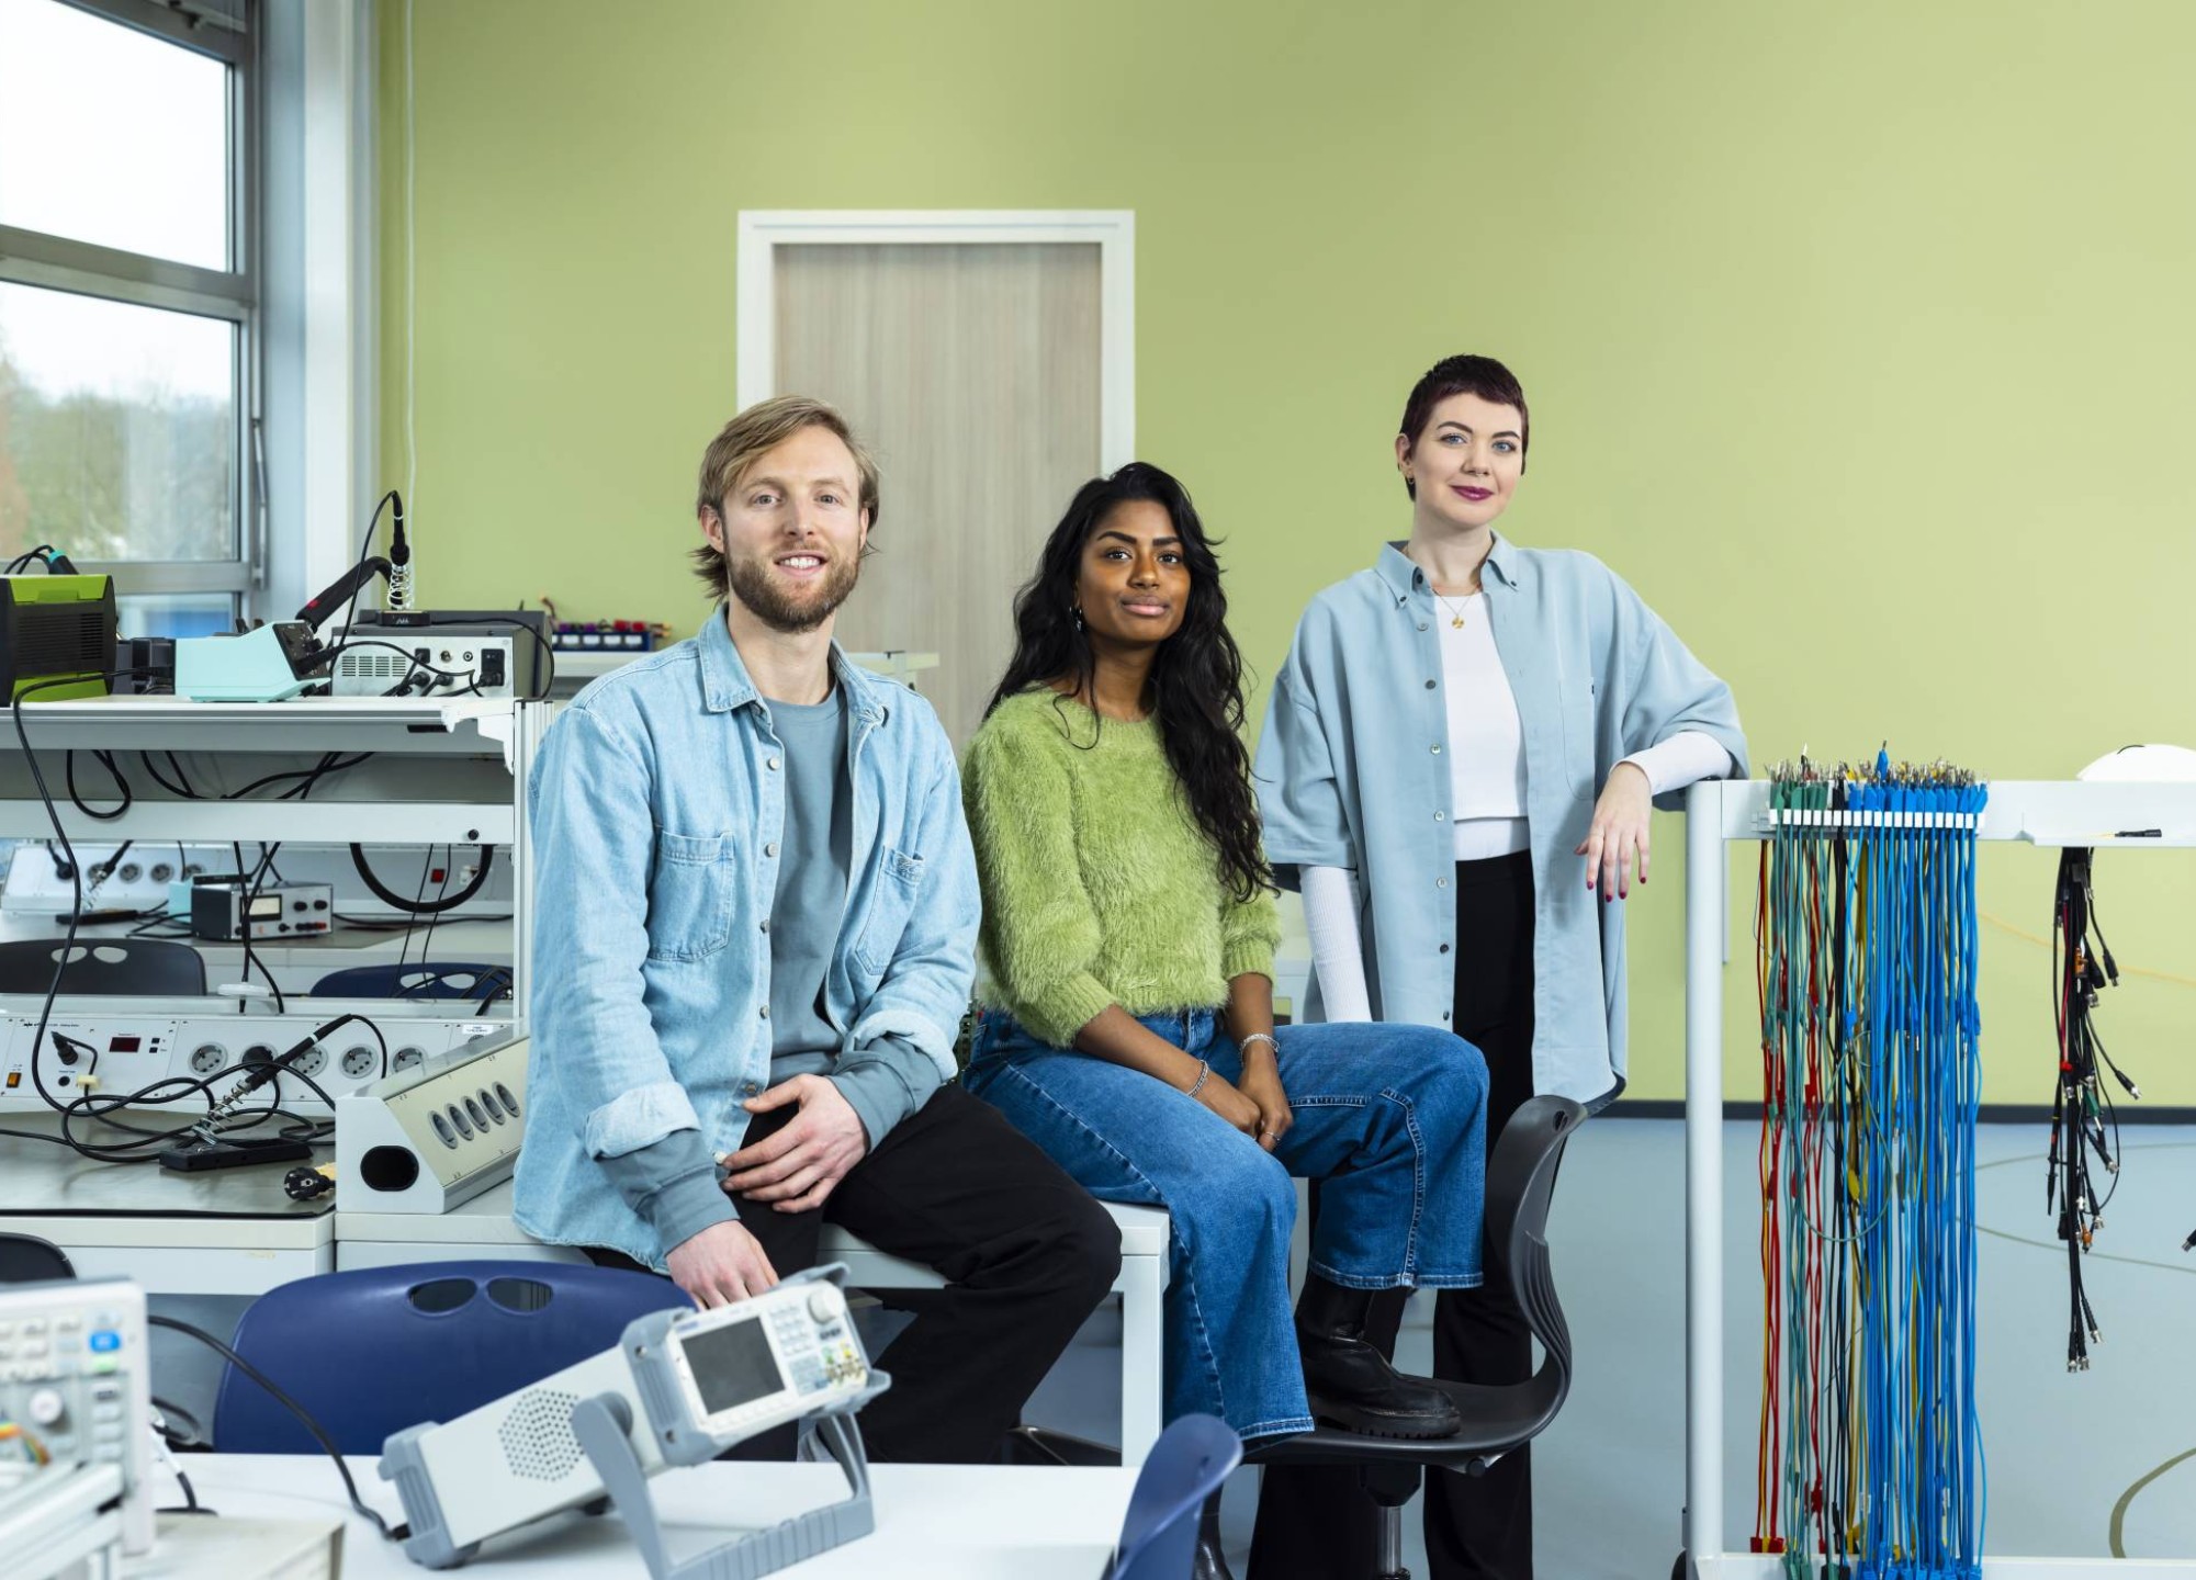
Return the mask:
[[[1419,380],[1394,437],[1410,538],[1311,599],[1256,772],[1267,856],[1304,895],[1311,1014],[1476,1045],[1489,1148],[1533,1093],[1601,1108],[1623,1091],[1616,902],[1647,880],[1651,803],[1676,810],[1695,779],[1746,775],[1730,687],[1614,571],[1495,533],[1531,435],[1524,388],[1493,358],[1447,358]],[[1390,1352],[1399,1319],[1401,1301],[1377,1301],[1372,1336]],[[1515,1301],[1443,1290],[1436,1378],[1531,1369]],[[1484,1477],[1427,1479],[1436,1580],[1533,1573],[1528,1464],[1520,1451]],[[1252,1562],[1357,1573],[1375,1521],[1351,1470],[1269,1470]]]

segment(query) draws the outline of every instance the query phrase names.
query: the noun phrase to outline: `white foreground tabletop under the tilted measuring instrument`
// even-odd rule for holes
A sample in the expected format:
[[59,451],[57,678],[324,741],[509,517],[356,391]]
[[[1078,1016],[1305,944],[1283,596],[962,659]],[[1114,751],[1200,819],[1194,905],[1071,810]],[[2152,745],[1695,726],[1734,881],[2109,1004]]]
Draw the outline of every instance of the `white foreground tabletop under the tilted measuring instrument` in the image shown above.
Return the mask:
[[[376,1462],[349,1462],[360,1494],[395,1525],[395,1488]],[[367,1525],[343,1499],[327,1459],[312,1455],[184,1455],[198,1499],[222,1514],[253,1519],[345,1516],[345,1580],[419,1580],[428,1573]],[[876,1532],[819,1554],[784,1573],[797,1580],[1098,1580],[1120,1536],[1135,1470],[1030,1466],[872,1466]],[[163,1503],[171,1488],[156,1472]],[[652,1479],[672,1554],[685,1558],[740,1527],[775,1525],[845,1497],[832,1464],[707,1464]],[[639,1551],[615,1514],[564,1514],[490,1543],[461,1573],[646,1576]],[[184,1580],[184,1576],[176,1576]],[[191,1580],[226,1580],[191,1576]]]

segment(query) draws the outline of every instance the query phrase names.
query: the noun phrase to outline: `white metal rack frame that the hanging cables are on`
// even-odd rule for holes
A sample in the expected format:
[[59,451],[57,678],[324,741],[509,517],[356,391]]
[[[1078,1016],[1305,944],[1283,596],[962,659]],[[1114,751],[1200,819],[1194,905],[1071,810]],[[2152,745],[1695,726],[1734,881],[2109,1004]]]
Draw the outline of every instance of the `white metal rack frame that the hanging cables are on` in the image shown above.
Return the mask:
[[[1724,1551],[1724,963],[1728,840],[1770,834],[1766,779],[1695,783],[1684,805],[1684,1560],[1693,1580],[1768,1580],[1781,1558]],[[2196,783],[1990,786],[1983,840],[2196,845]],[[2196,1558],[1983,1558],[1985,1580],[2196,1580]]]

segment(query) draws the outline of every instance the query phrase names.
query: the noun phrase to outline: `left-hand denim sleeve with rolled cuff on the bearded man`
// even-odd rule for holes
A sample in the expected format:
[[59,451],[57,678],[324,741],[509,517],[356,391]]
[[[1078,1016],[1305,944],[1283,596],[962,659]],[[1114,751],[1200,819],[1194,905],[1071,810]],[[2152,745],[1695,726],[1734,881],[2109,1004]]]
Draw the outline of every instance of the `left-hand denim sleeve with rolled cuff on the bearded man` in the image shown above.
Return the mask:
[[643,744],[571,707],[542,742],[529,792],[531,1036],[597,1159],[701,1128],[643,1001],[650,775]]

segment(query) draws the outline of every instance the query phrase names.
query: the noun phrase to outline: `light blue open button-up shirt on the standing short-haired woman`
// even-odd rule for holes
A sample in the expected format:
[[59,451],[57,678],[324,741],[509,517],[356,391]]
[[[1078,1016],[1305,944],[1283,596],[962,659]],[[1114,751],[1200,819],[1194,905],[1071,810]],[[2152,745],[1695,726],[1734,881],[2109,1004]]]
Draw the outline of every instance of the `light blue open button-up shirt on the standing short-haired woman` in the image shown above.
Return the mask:
[[[1625,1084],[1625,906],[1572,851],[1610,768],[1680,731],[1746,777],[1730,687],[1588,553],[1502,538],[1480,577],[1524,726],[1533,840],[1533,1086],[1603,1106]],[[1401,544],[1304,610],[1258,740],[1258,810],[1280,882],[1359,876],[1366,985],[1381,1020],[1449,1027],[1456,887],[1449,718],[1434,592]],[[1682,797],[1658,803],[1678,810]],[[1465,961],[1469,968],[1469,961]],[[1318,988],[1307,1018],[1320,1018]]]

